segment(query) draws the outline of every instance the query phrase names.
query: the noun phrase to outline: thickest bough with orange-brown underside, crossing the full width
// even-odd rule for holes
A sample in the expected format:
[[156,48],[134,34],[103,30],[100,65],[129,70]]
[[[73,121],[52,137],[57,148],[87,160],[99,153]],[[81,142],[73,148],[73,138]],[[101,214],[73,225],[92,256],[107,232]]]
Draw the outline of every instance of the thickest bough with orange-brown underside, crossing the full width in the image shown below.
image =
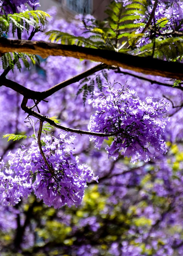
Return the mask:
[[75,45],[61,45],[43,41],[26,41],[0,39],[0,52],[23,52],[40,55],[43,58],[52,56],[66,56],[77,59],[94,60],[107,65],[115,65],[124,69],[141,72],[146,75],[158,75],[173,79],[183,79],[183,64],[132,56],[109,50],[91,49]]

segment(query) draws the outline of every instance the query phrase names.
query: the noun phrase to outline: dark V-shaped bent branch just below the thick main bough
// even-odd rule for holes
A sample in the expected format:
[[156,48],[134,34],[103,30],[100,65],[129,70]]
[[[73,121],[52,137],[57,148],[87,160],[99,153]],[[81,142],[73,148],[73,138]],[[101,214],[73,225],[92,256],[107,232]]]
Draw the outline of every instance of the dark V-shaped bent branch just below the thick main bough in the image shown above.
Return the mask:
[[62,88],[72,84],[72,83],[75,83],[75,82],[78,82],[80,81],[81,79],[89,76],[89,75],[92,75],[94,74],[95,72],[97,71],[100,71],[104,68],[109,68],[109,69],[117,69],[116,66],[107,66],[106,64],[102,63],[102,64],[99,64],[99,65],[96,65],[95,67],[93,68],[90,68],[88,69],[87,71],[84,71],[83,73],[79,74],[79,75],[76,75],[66,81],[63,81],[55,86],[53,86],[52,88],[46,90],[46,91],[43,91],[43,92],[36,92],[36,91],[33,91],[33,90],[30,90],[30,89],[27,89],[26,87],[16,83],[16,82],[13,82],[9,79],[6,79],[5,77],[1,77],[1,82],[0,82],[0,86],[4,85],[6,87],[9,87],[11,89],[13,89],[14,91],[22,94],[24,97],[26,97],[27,99],[32,99],[32,100],[37,100],[37,101],[41,101],[41,100],[44,100],[45,98],[51,96],[53,93],[61,90]]

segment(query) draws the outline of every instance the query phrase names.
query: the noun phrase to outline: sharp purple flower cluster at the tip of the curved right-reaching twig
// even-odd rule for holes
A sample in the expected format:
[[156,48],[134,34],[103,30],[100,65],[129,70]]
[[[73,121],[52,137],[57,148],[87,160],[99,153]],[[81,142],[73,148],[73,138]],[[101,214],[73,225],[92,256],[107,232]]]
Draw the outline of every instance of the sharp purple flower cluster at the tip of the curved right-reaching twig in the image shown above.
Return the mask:
[[[116,83],[114,83],[115,85]],[[152,101],[147,97],[146,102],[135,98],[136,92],[129,88],[115,90],[114,87],[104,87],[105,93],[95,93],[96,99],[89,100],[98,110],[90,118],[88,130],[91,132],[115,133],[113,142],[107,146],[108,157],[117,159],[119,152],[127,157],[132,156],[131,162],[154,157],[157,153],[166,153],[166,145],[162,134],[167,119],[167,103]],[[106,135],[107,137],[107,135]],[[90,136],[100,149],[105,137]],[[151,152],[150,152],[150,151]]]

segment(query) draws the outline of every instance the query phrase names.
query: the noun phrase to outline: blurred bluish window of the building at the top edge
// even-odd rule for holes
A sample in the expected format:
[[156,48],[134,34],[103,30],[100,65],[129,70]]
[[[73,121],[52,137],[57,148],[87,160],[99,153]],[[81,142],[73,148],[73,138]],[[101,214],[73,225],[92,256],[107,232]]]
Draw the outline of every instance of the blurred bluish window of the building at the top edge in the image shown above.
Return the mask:
[[92,0],[67,0],[67,7],[77,13],[91,13]]

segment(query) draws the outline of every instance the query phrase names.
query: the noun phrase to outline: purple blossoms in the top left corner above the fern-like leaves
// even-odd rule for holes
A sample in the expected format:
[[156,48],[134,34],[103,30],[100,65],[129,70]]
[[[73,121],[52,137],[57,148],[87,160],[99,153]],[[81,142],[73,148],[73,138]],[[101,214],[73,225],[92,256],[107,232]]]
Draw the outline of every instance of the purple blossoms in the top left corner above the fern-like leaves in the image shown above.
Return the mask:
[[1,1],[0,3],[0,14],[9,14],[9,13],[20,13],[23,11],[28,11],[27,6],[28,4],[33,10],[36,10],[40,4],[39,0],[9,0],[9,1]]

